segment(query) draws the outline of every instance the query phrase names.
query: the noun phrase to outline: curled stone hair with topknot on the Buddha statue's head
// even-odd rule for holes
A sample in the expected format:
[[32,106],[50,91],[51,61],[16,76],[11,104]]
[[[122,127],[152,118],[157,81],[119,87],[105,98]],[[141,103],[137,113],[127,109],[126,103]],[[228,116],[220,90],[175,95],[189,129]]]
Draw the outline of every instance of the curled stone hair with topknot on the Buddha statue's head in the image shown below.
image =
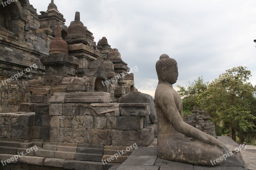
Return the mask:
[[173,58],[170,58],[167,54],[160,56],[160,59],[156,62],[156,73],[158,79],[161,78],[162,72],[165,69],[170,69],[173,66],[176,66],[177,62]]

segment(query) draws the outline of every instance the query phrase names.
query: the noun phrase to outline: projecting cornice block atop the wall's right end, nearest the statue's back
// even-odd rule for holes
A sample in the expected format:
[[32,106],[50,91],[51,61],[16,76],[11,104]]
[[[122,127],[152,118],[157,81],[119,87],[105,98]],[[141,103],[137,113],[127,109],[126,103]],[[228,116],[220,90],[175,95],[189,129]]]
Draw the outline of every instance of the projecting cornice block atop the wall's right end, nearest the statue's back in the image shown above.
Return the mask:
[[148,103],[121,103],[119,104],[121,116],[148,116],[150,107]]

